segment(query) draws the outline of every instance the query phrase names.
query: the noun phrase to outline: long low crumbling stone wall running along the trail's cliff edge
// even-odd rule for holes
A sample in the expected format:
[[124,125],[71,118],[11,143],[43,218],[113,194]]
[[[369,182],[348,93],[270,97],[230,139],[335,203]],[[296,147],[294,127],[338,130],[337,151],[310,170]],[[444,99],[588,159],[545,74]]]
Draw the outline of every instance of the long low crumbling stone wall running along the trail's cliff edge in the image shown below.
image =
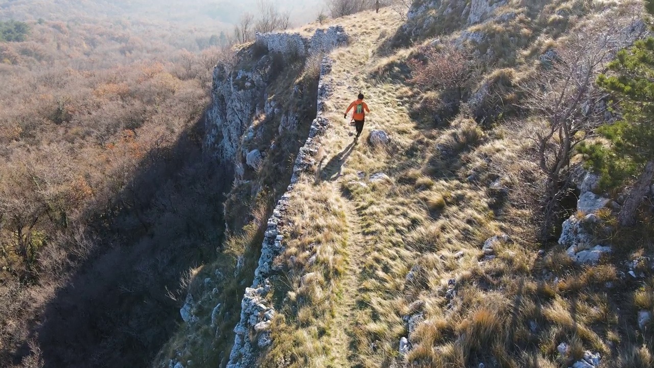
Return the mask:
[[[288,191],[298,182],[300,174],[315,164],[314,156],[318,152],[320,136],[328,126],[328,120],[322,117],[324,101],[330,94],[331,81],[328,75],[331,71],[331,62],[323,58],[320,66],[320,82],[318,83],[318,116],[311,124],[311,131],[305,145],[301,147],[293,168],[293,176]],[[256,361],[257,351],[271,344],[269,327],[275,315],[272,303],[267,300],[269,291],[269,276],[276,272],[273,268],[273,260],[281,255],[284,250],[284,238],[279,234],[279,225],[283,221],[284,212],[288,206],[290,193],[286,193],[277,203],[273,215],[268,220],[266,237],[262,244],[261,257],[258,267],[255,270],[252,287],[245,290],[243,301],[241,301],[241,320],[234,328],[235,339],[230,354],[228,368],[253,367]],[[251,336],[256,336],[252,342]]]

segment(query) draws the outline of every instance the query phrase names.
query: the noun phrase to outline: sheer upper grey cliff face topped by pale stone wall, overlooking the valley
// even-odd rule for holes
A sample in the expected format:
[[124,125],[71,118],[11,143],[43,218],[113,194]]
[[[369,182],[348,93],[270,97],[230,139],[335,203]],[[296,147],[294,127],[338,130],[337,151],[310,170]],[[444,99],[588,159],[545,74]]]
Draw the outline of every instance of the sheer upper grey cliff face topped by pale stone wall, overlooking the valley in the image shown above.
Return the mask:
[[[278,72],[275,55],[306,58],[312,54],[329,52],[346,45],[349,39],[341,26],[318,29],[313,37],[299,33],[265,33],[256,36],[258,47],[243,48],[236,55],[237,62],[216,65],[211,90],[212,103],[207,110],[205,149],[222,162],[231,162],[236,180],[252,167],[257,156],[247,143],[256,138],[260,128],[253,122],[258,115],[271,117],[284,113],[269,100],[271,81]],[[262,56],[258,55],[264,49]],[[243,67],[240,65],[243,64]],[[296,88],[299,88],[296,86]],[[294,93],[301,93],[294,90]],[[298,117],[281,117],[279,132],[297,125]],[[247,156],[250,155],[249,164]],[[254,159],[254,160],[253,160]],[[255,165],[256,166],[256,165]]]

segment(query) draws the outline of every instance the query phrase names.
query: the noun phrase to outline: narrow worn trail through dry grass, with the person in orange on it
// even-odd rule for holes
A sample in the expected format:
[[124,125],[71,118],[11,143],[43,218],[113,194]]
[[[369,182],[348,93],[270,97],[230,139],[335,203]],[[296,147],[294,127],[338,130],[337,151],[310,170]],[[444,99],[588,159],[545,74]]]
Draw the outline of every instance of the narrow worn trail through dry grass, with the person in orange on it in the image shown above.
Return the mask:
[[[332,193],[341,195],[347,204],[347,274],[343,277],[337,299],[334,326],[336,346],[333,346],[337,358],[335,363],[339,367],[361,366],[356,335],[362,328],[359,314],[364,311],[358,304],[362,303],[360,287],[366,281],[366,276],[362,273],[364,260],[370,256],[375,246],[373,241],[364,235],[356,204],[343,191],[346,179],[341,173],[350,166],[351,160],[356,159],[353,155],[370,155],[370,152],[364,149],[368,144],[365,139],[371,130],[370,121],[374,122],[375,118],[387,114],[389,96],[369,75],[374,62],[378,61],[372,56],[379,47],[379,33],[393,16],[389,12],[379,14],[376,22],[356,25],[353,30],[348,29],[354,35],[355,41],[348,48],[336,52],[332,65],[332,77],[337,82],[328,105],[332,106],[334,111],[330,113],[332,128],[323,143],[328,154],[327,162],[320,172],[320,179],[329,183]],[[368,114],[369,122],[366,123],[364,134],[355,141],[354,127],[349,126],[349,120],[343,119],[343,111],[359,91],[370,96],[366,101],[372,111]]]

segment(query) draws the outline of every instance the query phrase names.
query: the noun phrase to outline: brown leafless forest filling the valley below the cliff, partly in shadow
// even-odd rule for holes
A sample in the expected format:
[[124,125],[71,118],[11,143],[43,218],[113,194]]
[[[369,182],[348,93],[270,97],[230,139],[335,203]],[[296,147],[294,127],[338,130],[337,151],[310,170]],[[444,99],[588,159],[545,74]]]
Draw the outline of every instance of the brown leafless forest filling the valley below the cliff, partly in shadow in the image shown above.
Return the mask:
[[228,54],[200,52],[211,33],[46,9],[0,43],[0,365],[146,365],[179,316],[167,288],[222,237],[200,122]]

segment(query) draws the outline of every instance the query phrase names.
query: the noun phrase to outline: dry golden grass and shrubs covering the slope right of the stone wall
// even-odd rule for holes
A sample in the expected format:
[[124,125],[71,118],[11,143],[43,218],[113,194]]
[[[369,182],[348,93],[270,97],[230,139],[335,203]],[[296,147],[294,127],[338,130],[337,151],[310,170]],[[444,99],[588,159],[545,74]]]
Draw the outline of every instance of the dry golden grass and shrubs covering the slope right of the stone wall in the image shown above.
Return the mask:
[[[604,8],[584,4],[541,7],[535,21],[521,18],[526,28],[504,29],[506,38],[490,37],[497,44],[488,47],[496,52],[483,58],[481,73],[471,77],[475,83],[464,84],[469,90],[455,91],[464,101],[455,101],[462,103],[439,121],[434,120],[439,105],[424,99],[429,93],[439,100],[453,93],[450,82],[461,78],[456,65],[431,71],[431,76],[446,73],[443,81],[412,75],[409,64],[419,73],[429,58],[442,58],[421,45],[388,48],[387,38],[396,36],[387,30],[399,24],[392,9],[337,20],[357,41],[332,53],[331,77],[343,82],[334,85],[327,103],[332,128],[322,139],[326,163],[305,175],[291,194],[296,206],[284,227],[290,239],[286,272],[275,282],[281,313],[273,321],[273,346],[262,352],[262,366],[568,367],[585,350],[598,352],[606,366],[651,365],[651,329],[636,328],[638,310],[652,308],[651,280],[622,276],[624,261],[654,250],[651,215],[642,213],[637,231],[612,234],[619,251],[594,267],[575,265],[555,237],[538,232],[538,195],[545,193],[548,171],[539,167],[532,138],[545,137],[551,124],[568,118],[556,120],[538,106],[526,106],[533,95],[517,86],[528,86],[547,50],[564,52],[576,42],[561,36],[590,32],[593,38],[598,28],[608,30],[602,23],[606,17],[634,9],[625,3],[594,18]],[[563,26],[542,26],[543,17],[561,9],[574,17]],[[529,42],[504,43],[527,28]],[[447,41],[448,31],[441,32],[441,42]],[[411,61],[424,62],[425,54],[426,64]],[[599,63],[594,65],[608,61],[584,55],[601,59],[591,60]],[[576,70],[577,64],[567,65]],[[594,77],[580,76],[590,84],[576,84],[574,92],[586,94]],[[423,94],[414,84],[427,84],[422,81],[430,83],[431,92]],[[483,86],[487,93],[474,101]],[[341,109],[360,90],[372,111],[365,130],[388,132],[389,147],[355,145],[348,134]],[[491,108],[496,99],[504,101],[501,109]],[[570,119],[579,128],[571,139],[593,128],[579,117]],[[556,135],[547,149],[563,141],[557,139],[564,134]],[[564,165],[578,162],[574,151],[568,153]],[[390,178],[368,179],[379,172]],[[559,225],[570,215],[557,213]],[[482,249],[487,240],[492,250]],[[651,269],[640,269],[651,278]],[[398,351],[402,337],[411,342],[405,355]],[[570,344],[565,354],[557,351],[560,342]]]

